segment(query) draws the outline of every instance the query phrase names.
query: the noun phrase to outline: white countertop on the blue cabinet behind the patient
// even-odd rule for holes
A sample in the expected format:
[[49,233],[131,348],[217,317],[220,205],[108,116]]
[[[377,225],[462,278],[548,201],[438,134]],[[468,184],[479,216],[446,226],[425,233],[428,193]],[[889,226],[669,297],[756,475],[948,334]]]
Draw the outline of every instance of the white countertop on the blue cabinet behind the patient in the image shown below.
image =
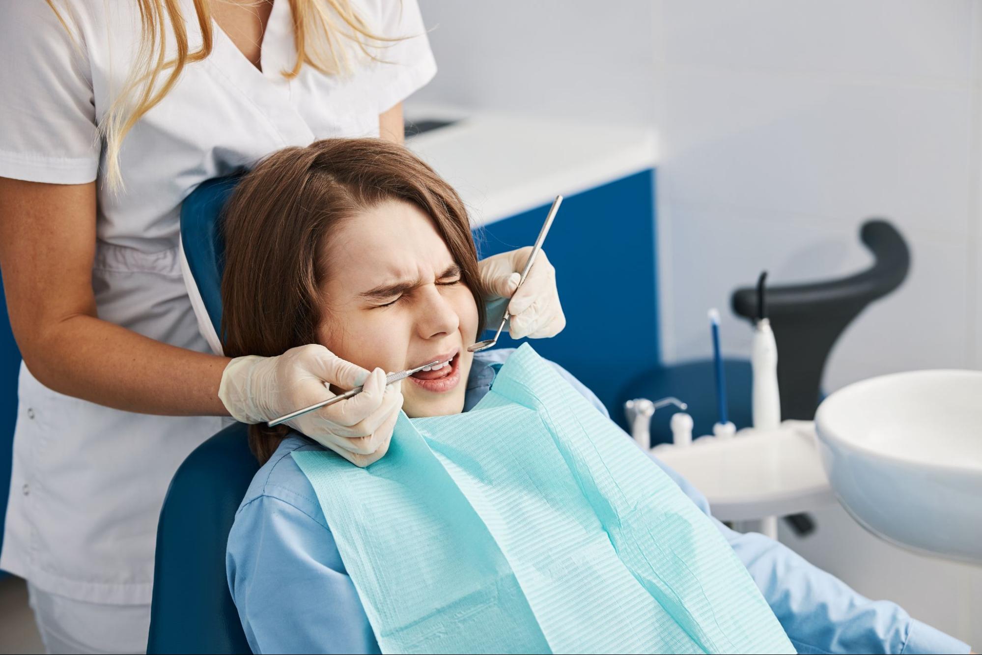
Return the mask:
[[[458,114],[459,116],[460,114]],[[454,117],[413,108],[411,119]],[[533,116],[470,114],[409,148],[461,194],[474,226],[654,167],[653,130]]]

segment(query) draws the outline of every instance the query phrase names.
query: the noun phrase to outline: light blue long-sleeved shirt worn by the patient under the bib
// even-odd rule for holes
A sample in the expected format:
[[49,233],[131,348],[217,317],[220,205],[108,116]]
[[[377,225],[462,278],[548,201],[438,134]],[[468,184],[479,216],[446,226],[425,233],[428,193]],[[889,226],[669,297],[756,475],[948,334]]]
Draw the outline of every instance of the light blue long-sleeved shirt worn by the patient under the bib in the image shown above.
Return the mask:
[[[474,355],[464,411],[484,397],[511,349]],[[605,414],[597,397],[557,364]],[[246,492],[229,534],[232,597],[255,653],[377,653],[378,644],[345,571],[313,488],[291,454],[321,447],[285,439]],[[706,515],[705,497],[657,458]],[[911,619],[894,603],[865,598],[762,534],[712,519],[750,572],[799,653],[967,653],[967,644]]]

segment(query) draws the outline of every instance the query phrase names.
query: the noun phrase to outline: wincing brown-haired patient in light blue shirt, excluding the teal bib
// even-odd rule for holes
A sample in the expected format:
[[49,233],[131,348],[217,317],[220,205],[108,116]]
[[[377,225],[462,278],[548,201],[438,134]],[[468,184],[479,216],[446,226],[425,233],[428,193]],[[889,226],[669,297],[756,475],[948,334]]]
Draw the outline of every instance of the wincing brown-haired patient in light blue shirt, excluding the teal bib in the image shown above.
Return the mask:
[[[485,310],[464,205],[405,148],[375,139],[288,148],[246,175],[226,214],[226,355],[321,344],[373,371],[365,383],[371,393],[383,393],[376,369],[449,359],[385,392],[401,394],[397,402],[411,418],[467,412],[504,375],[499,370],[512,351],[466,350],[481,333]],[[606,415],[589,389],[551,365]],[[349,574],[354,563],[342,561],[298,464],[300,454],[323,447],[264,425],[249,427],[249,446],[262,467],[229,535],[227,572],[253,652],[379,652],[364,589]],[[623,448],[635,448],[627,436]],[[709,517],[705,498],[662,469],[699,516]],[[798,652],[969,650],[892,603],[862,597],[776,541],[703,520],[725,538]]]

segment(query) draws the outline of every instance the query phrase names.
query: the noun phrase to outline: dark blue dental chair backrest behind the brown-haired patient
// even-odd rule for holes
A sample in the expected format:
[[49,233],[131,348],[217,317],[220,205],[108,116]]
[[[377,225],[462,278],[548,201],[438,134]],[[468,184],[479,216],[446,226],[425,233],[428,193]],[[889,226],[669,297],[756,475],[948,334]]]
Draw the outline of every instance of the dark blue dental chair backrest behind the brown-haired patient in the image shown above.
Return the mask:
[[[211,180],[181,210],[183,256],[217,338],[223,240],[219,215],[238,178]],[[202,326],[202,331],[204,331]],[[211,341],[211,339],[209,339]],[[157,524],[147,653],[248,653],[225,576],[225,545],[259,464],[246,425],[234,423],[198,446],[178,468]]]

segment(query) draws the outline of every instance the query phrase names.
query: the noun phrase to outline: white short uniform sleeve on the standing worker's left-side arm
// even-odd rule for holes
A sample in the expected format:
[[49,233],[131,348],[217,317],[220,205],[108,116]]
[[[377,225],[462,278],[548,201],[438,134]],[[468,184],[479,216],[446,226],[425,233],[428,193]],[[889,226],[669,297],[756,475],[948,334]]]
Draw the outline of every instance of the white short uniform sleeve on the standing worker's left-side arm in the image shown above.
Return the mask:
[[[0,177],[95,180],[99,144],[91,73],[76,3],[9,0],[0,20]],[[73,38],[74,35],[74,38]]]

